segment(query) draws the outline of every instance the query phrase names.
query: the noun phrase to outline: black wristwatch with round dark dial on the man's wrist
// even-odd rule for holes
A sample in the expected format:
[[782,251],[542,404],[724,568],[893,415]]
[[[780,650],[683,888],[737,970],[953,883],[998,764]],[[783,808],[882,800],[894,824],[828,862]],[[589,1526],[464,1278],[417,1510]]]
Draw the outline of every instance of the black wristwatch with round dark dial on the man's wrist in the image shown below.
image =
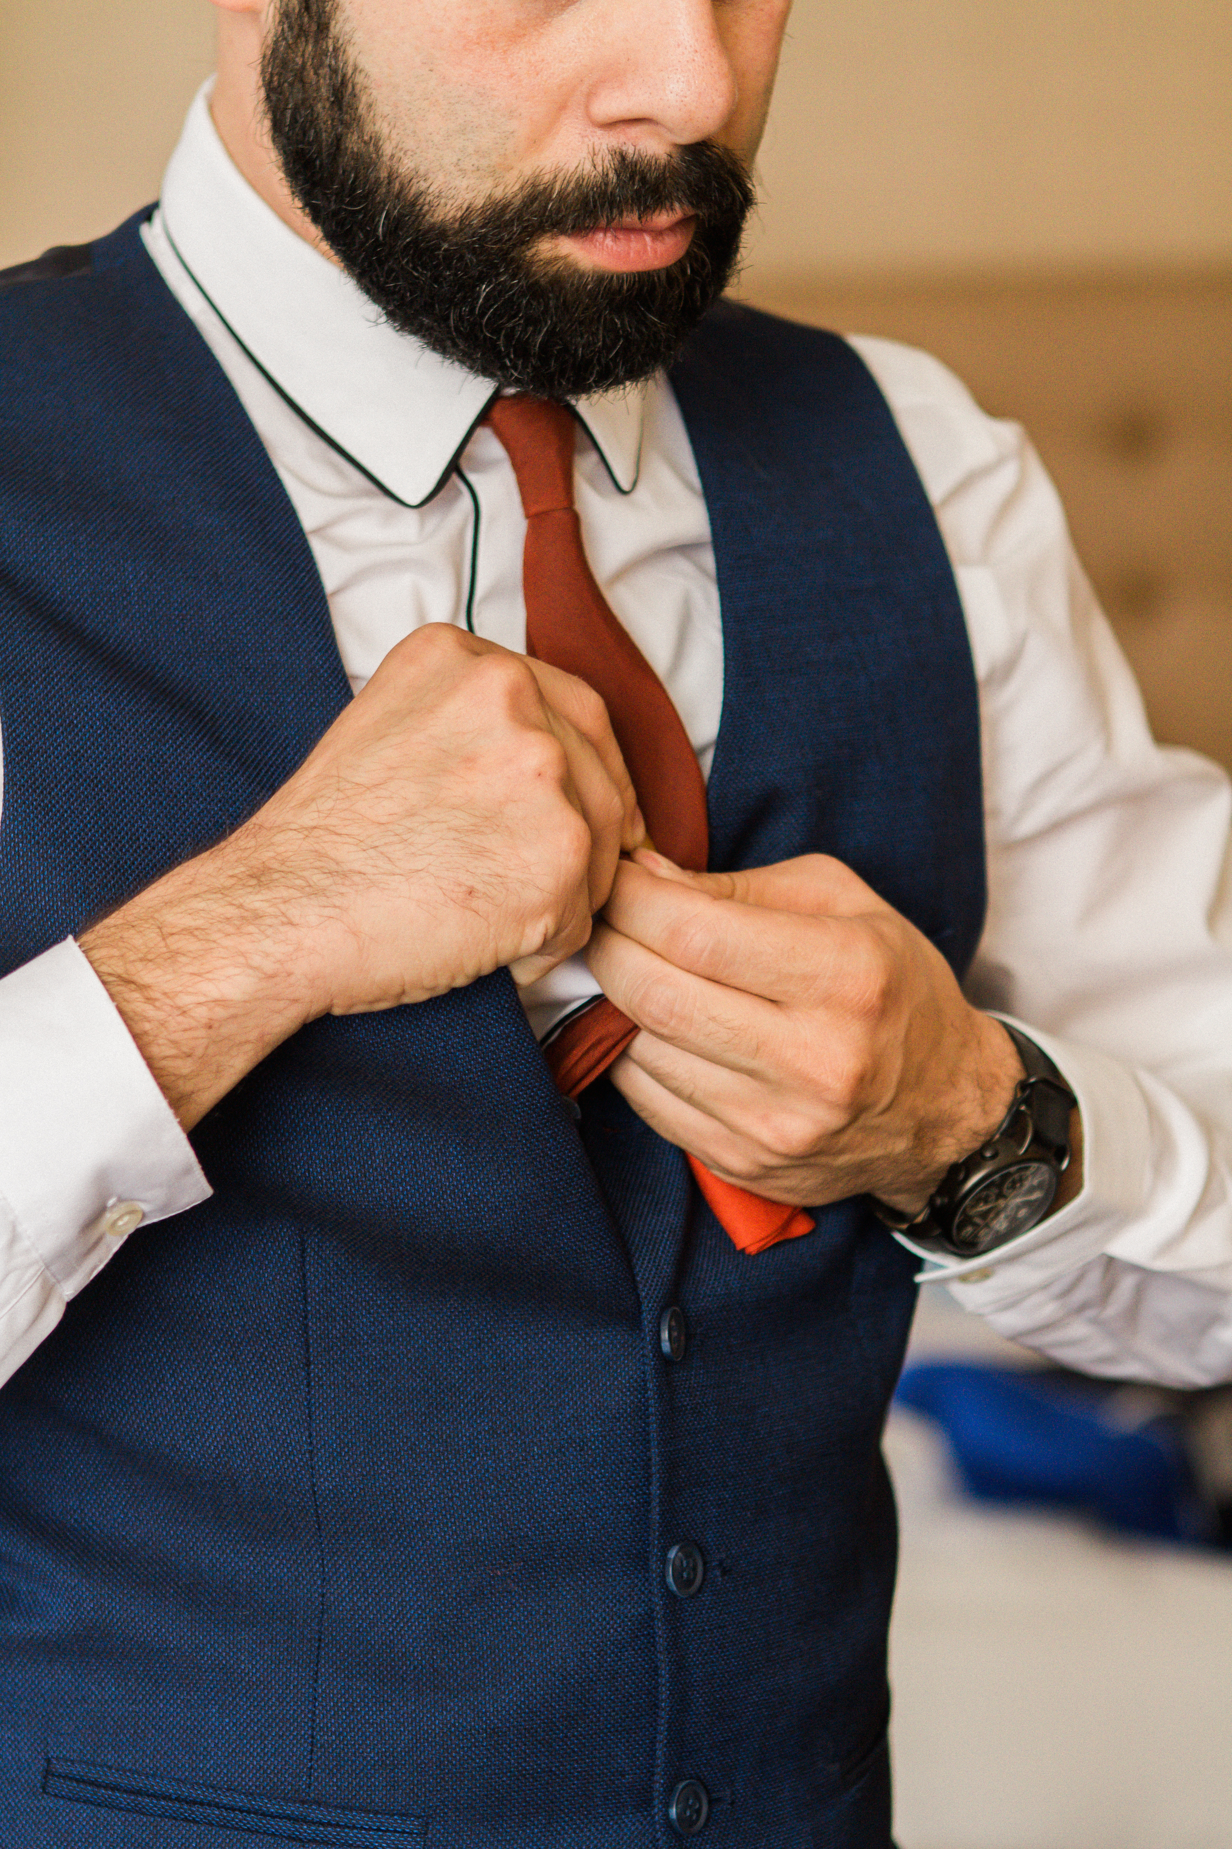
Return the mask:
[[874,1200],[874,1213],[912,1246],[975,1259],[1038,1226],[1069,1167],[1069,1113],[1077,1098],[1025,1034],[1001,1022],[1027,1076],[986,1143],[946,1170],[924,1213],[909,1218]]

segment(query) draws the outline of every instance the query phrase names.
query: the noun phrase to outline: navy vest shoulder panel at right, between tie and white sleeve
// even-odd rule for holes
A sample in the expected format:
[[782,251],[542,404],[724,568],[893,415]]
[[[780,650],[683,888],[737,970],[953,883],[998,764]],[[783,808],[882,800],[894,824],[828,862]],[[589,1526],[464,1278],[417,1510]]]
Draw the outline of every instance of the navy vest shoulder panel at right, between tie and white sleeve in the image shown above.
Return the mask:
[[984,913],[975,675],[885,399],[844,340],[730,303],[672,385],[722,601],[711,865],[837,854],[966,969]]

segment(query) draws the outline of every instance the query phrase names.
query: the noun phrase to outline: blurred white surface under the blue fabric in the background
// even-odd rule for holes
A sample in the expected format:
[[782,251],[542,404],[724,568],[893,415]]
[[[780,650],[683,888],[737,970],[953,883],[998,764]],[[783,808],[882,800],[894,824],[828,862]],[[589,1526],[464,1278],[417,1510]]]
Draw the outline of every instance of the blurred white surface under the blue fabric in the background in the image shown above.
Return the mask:
[[[911,1352],[1029,1359],[935,1289]],[[1228,1849],[1232,1557],[970,1501],[911,1413],[887,1457],[901,1849]]]

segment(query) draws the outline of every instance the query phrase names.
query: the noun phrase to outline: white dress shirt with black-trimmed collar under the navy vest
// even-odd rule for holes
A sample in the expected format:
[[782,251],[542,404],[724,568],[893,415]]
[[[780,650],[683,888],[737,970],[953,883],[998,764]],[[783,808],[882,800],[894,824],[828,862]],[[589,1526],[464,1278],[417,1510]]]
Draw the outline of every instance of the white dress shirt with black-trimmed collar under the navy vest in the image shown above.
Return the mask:
[[[229,161],[196,98],[146,248],[277,470],[355,690],[419,623],[525,647],[525,518],[475,427],[491,386],[393,333]],[[983,727],[988,919],[968,993],[1018,1021],[1082,1111],[1084,1185],[999,1252],[935,1267],[1001,1333],[1097,1374],[1232,1376],[1232,791],[1149,734],[1016,425],[927,355],[855,338],[955,569]],[[702,488],[665,377],[578,405],[576,494],[611,608],[702,769],[722,625]],[[277,662],[270,664],[277,673]],[[526,995],[539,1037],[593,982]],[[72,941],[0,982],[0,1379],[116,1246],[209,1194]],[[887,1235],[888,1237],[888,1235]]]

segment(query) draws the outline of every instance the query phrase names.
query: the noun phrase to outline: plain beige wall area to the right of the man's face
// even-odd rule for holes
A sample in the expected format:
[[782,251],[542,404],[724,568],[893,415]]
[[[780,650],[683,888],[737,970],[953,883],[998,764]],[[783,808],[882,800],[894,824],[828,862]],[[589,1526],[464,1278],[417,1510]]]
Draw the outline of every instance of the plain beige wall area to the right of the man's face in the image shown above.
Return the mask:
[[757,270],[1232,259],[1228,0],[798,0]]

